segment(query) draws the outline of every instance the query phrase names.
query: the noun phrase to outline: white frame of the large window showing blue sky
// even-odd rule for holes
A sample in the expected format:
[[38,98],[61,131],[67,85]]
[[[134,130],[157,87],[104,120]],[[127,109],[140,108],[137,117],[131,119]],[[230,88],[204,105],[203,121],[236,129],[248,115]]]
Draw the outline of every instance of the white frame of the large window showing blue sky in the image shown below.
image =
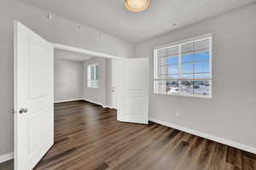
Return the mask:
[[[209,81],[209,87],[210,87],[210,93],[208,95],[201,95],[201,94],[180,94],[181,92],[181,86],[180,86],[180,82],[181,82],[181,59],[182,59],[182,46],[184,44],[187,43],[191,43],[191,42],[199,42],[202,40],[206,40],[209,39],[209,71],[210,71],[210,76],[211,78],[202,78],[202,81]],[[177,56],[177,82],[179,84],[179,89],[178,92],[179,94],[161,94],[156,92],[156,83],[159,80],[158,77],[158,56],[157,56],[157,52],[161,49],[165,49],[165,48],[173,48],[173,47],[178,47],[178,56]],[[168,79],[166,79],[168,80]],[[175,79],[173,79],[175,80]],[[195,81],[193,79],[189,79],[191,81]],[[179,42],[173,42],[173,43],[169,43],[166,44],[164,46],[158,47],[158,48],[154,48],[154,94],[157,95],[172,95],[172,96],[182,96],[182,97],[192,97],[192,98],[205,98],[205,99],[212,99],[212,34],[207,34],[207,35],[203,35],[200,37],[192,37],[189,39],[185,39]]]

